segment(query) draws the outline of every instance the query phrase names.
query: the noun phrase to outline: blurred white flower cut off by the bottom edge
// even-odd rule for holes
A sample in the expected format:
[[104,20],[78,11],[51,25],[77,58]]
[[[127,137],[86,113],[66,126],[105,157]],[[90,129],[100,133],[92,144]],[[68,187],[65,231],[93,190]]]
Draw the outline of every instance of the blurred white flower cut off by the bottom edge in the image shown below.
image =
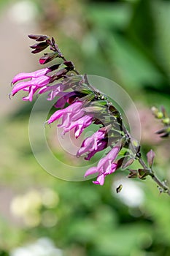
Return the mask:
[[58,249],[49,238],[39,238],[34,244],[13,249],[9,256],[62,256],[61,249]]

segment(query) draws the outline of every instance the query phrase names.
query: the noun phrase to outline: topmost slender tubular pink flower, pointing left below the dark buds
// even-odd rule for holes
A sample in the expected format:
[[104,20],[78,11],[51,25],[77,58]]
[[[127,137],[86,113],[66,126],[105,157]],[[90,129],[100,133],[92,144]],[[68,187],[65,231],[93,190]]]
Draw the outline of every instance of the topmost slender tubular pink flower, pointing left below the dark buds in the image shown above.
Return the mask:
[[12,79],[12,83],[14,84],[20,80],[27,79],[27,78],[39,78],[42,75],[46,75],[50,71],[51,70],[46,67],[45,69],[39,69],[31,73],[28,73],[28,72],[19,73],[18,75],[15,75],[15,77]]

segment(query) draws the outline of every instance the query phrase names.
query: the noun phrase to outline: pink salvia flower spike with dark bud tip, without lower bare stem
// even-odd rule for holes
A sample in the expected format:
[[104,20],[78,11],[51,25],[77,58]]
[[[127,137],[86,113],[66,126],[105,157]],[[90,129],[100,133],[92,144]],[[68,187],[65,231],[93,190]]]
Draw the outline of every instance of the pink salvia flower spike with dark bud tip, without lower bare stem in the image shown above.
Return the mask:
[[23,97],[23,100],[29,101],[33,100],[34,94],[46,92],[48,92],[47,100],[59,97],[54,105],[57,110],[46,122],[52,124],[61,118],[58,127],[63,128],[63,135],[74,129],[75,138],[78,138],[86,127],[92,123],[96,124],[98,131],[85,138],[77,151],[77,157],[83,155],[85,160],[90,160],[98,151],[110,148],[109,153],[98,162],[97,167],[91,167],[85,173],[85,177],[96,173],[97,180],[93,182],[103,185],[104,178],[118,167],[115,159],[123,146],[121,118],[108,99],[90,86],[87,76],[79,75],[72,61],[66,61],[53,38],[50,40],[47,36],[34,35],[29,37],[39,42],[31,46],[34,49],[32,53],[39,53],[48,46],[53,51],[53,53],[45,53],[39,59],[40,64],[55,58],[61,58],[63,62],[35,72],[15,75],[12,79],[13,88],[10,95],[14,96],[18,91],[27,91],[28,95]]

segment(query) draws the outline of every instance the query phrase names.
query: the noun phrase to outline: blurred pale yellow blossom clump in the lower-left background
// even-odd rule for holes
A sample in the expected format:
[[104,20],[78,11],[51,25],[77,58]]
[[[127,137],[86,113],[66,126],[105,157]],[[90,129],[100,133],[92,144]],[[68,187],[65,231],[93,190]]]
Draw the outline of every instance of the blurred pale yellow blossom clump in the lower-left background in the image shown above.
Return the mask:
[[59,197],[52,189],[41,191],[31,189],[24,195],[18,195],[12,199],[10,209],[16,217],[21,217],[28,227],[36,227],[42,222],[45,227],[53,227],[57,223],[57,216],[51,211],[41,212],[45,208],[55,208]]

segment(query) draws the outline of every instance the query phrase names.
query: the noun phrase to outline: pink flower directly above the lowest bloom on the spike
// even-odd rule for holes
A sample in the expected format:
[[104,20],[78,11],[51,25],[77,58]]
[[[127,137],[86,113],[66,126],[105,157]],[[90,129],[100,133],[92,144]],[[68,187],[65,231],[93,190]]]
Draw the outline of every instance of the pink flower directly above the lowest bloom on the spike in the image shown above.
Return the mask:
[[96,154],[96,152],[103,150],[104,147],[107,146],[106,140],[103,140],[105,134],[106,129],[99,129],[92,136],[86,138],[77,152],[77,157],[80,157],[82,154],[89,153],[88,157],[85,157],[86,160],[89,160],[94,154]]

